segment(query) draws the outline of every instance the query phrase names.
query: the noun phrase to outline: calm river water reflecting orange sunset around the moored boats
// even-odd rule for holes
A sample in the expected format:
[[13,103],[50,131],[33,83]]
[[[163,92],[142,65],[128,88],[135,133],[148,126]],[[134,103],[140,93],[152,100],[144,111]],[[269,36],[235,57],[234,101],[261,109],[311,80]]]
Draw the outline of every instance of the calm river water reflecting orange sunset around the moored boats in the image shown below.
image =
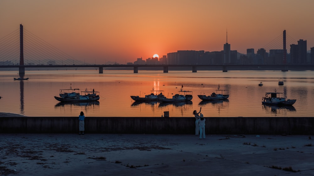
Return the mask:
[[[192,117],[202,107],[204,117],[312,117],[314,114],[314,71],[146,71],[139,70],[26,70],[29,80],[13,80],[17,71],[0,71],[0,112],[24,116]],[[279,79],[284,85],[278,85]],[[263,86],[258,86],[263,82]],[[165,96],[193,91],[189,103],[137,103],[130,96],[165,91]],[[228,101],[204,102],[197,95],[229,90]],[[59,103],[59,89],[78,88],[100,92],[97,103]],[[265,92],[284,93],[296,103],[289,107],[262,105]]]

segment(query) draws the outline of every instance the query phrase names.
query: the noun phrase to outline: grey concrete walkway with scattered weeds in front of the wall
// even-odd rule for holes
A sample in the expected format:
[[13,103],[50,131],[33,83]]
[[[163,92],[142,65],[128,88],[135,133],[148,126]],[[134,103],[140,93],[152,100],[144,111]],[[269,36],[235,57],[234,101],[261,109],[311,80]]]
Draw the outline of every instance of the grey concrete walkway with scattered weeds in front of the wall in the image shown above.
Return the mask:
[[311,145],[310,136],[300,135],[198,139],[194,135],[0,134],[0,171],[23,176],[303,176],[314,175]]

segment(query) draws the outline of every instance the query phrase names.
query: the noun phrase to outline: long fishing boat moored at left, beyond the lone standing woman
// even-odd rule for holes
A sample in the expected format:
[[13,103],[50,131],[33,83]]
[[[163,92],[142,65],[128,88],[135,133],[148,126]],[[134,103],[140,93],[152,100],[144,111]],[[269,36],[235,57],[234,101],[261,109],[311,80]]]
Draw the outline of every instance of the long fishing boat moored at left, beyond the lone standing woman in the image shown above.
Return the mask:
[[68,93],[71,89],[60,89],[59,96],[54,96],[57,101],[61,102],[88,102],[98,101],[100,99],[98,91],[81,91],[79,89],[73,89],[73,92]]

